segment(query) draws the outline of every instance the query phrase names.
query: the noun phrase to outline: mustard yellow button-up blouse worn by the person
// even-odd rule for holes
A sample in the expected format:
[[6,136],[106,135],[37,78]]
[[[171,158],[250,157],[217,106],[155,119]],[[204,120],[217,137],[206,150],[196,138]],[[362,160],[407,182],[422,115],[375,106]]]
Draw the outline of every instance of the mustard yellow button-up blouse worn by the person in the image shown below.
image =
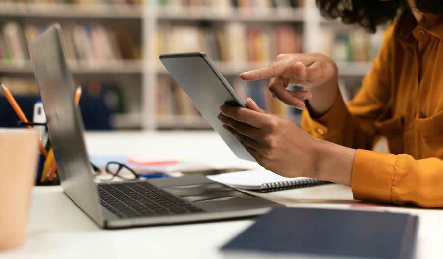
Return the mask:
[[[362,88],[347,105],[339,95],[329,111],[302,128],[356,148],[355,199],[443,207],[443,14],[411,12],[386,31]],[[378,136],[393,154],[370,151]]]

